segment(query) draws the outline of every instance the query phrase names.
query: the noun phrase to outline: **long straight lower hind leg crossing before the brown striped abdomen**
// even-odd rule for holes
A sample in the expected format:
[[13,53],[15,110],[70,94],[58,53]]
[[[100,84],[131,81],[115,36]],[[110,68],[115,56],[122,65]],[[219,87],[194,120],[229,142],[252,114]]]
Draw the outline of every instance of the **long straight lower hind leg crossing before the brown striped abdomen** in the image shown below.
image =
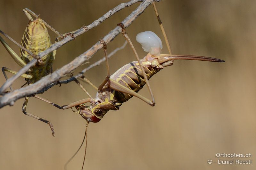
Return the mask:
[[144,80],[146,81],[146,84],[147,84],[147,86],[148,86],[148,91],[149,91],[149,93],[150,93],[150,95],[151,95],[151,103],[152,103],[152,104],[150,104],[150,105],[154,106],[154,105],[155,105],[155,99],[154,99],[154,96],[153,96],[153,92],[152,92],[151,87],[150,87],[150,85],[149,85],[148,78],[147,78],[147,75],[146,75],[146,73],[145,73],[145,70],[143,69],[143,66],[142,66],[142,64],[141,64],[141,62],[140,62],[140,58],[139,58],[139,56],[138,56],[138,53],[137,53],[136,49],[134,48],[134,46],[133,46],[133,44],[132,44],[132,41],[130,40],[129,36],[127,35],[127,33],[126,33],[126,31],[125,31],[125,28],[124,28],[123,23],[119,23],[119,24],[117,24],[117,26],[120,26],[120,27],[122,28],[122,35],[123,35],[124,38],[128,41],[128,43],[130,44],[130,46],[131,46],[131,48],[132,48],[132,50],[133,50],[133,52],[134,52],[134,54],[135,54],[135,56],[136,56],[136,59],[137,59],[139,65],[140,65],[140,69],[142,70],[142,73],[143,73],[143,78],[144,78]]

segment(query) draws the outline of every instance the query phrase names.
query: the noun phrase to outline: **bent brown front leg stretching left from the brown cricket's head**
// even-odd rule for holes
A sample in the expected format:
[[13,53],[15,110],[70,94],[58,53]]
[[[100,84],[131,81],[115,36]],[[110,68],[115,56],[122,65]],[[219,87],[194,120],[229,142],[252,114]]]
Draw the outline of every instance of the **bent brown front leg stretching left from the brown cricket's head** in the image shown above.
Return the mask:
[[44,99],[44,98],[42,98],[42,97],[40,97],[38,95],[35,95],[34,97],[37,98],[37,99],[43,100],[46,103],[51,104],[52,106],[58,107],[59,109],[68,109],[68,108],[71,108],[71,107],[78,106],[80,104],[84,104],[84,103],[88,103],[88,102],[90,102],[90,103],[93,102],[92,98],[86,98],[86,99],[82,99],[82,100],[78,100],[76,102],[70,103],[68,105],[59,106],[59,105],[57,105],[57,104],[55,104],[55,103],[53,103],[53,102],[51,102],[51,101],[49,101],[47,99]]

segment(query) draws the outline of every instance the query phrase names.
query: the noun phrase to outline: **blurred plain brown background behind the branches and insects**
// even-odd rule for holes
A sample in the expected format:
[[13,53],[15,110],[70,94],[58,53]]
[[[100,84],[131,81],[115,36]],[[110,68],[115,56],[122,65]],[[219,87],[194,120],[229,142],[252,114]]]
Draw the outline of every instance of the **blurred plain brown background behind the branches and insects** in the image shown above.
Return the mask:
[[[22,9],[27,7],[67,33],[92,23],[122,2],[127,1],[0,0],[0,29],[20,42],[28,23]],[[53,69],[90,48],[138,5],[125,8],[58,49]],[[155,107],[133,98],[119,111],[109,111],[99,123],[90,123],[84,169],[255,169],[256,1],[163,0],[156,5],[174,54],[213,56],[226,62],[176,61],[150,79]],[[127,28],[141,58],[146,53],[135,36],[146,30],[163,40],[152,6]],[[56,35],[49,32],[54,41]],[[6,41],[19,53],[17,46]],[[108,52],[123,43],[118,35],[108,44]],[[20,69],[2,45],[0,52],[1,67]],[[163,53],[168,53],[165,44]],[[90,62],[102,57],[101,50]],[[134,60],[126,46],[110,59],[111,73]],[[102,64],[86,76],[99,85],[106,74]],[[1,75],[1,85],[4,81]],[[20,78],[14,87],[24,82]],[[84,86],[95,95],[91,86]],[[149,97],[147,88],[140,94]],[[87,97],[74,82],[55,86],[42,96],[60,105]],[[53,123],[56,137],[52,137],[48,125],[21,112],[23,100],[0,110],[0,169],[63,169],[82,142],[84,119],[70,109],[59,110],[30,98],[27,111]],[[252,158],[241,160],[252,159],[252,165],[209,165],[207,160],[217,161],[218,152],[251,153]],[[83,155],[84,147],[68,169],[81,169]]]

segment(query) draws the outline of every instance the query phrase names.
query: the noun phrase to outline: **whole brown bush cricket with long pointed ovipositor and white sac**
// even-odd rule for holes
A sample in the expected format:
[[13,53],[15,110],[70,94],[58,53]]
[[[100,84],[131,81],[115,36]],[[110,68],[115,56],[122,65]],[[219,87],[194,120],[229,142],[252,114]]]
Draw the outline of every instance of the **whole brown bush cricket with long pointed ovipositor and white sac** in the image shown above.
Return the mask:
[[[223,60],[211,57],[172,55],[170,50],[170,54],[161,54],[162,42],[156,36],[156,34],[152,32],[140,33],[137,36],[137,40],[142,43],[143,49],[149,52],[148,55],[146,55],[143,59],[138,59],[137,52],[126,34],[123,25],[120,23],[119,26],[122,27],[122,34],[132,47],[137,57],[137,61],[124,65],[110,76],[106,43],[101,41],[101,43],[104,45],[104,54],[106,58],[108,75],[99,85],[98,92],[94,99],[86,98],[68,105],[59,106],[49,100],[44,100],[39,96],[35,97],[44,100],[45,102],[60,109],[76,107],[78,113],[86,120],[87,124],[89,122],[99,122],[109,110],[118,110],[122,103],[132,98],[132,96],[136,96],[149,105],[154,106],[154,97],[149,84],[146,82],[164,67],[171,66],[173,64],[173,60],[188,59],[224,62]],[[145,84],[148,85],[152,100],[148,100],[137,93]],[[90,103],[90,106],[85,105],[85,103]]]

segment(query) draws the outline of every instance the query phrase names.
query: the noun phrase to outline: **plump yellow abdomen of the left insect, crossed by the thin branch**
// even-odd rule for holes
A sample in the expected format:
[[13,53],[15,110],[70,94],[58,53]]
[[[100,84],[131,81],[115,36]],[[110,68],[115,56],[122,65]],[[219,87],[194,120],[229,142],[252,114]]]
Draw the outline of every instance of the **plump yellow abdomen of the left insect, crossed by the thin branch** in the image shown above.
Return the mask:
[[[41,18],[29,21],[22,37],[21,46],[36,55],[51,46],[50,36]],[[21,48],[20,57],[25,63],[29,63],[33,59],[27,51]],[[42,61],[40,65],[35,65],[30,68],[29,74],[34,76],[29,80],[30,83],[34,83],[50,73],[54,61],[53,53],[43,56]]]

